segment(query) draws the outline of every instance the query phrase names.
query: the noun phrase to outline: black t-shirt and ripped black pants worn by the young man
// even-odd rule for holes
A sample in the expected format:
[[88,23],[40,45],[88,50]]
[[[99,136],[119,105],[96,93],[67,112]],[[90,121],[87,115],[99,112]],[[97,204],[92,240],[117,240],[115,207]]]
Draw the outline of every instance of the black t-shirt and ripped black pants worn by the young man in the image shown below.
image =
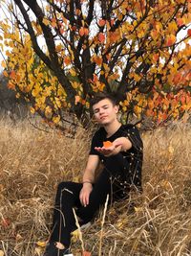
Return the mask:
[[[109,157],[95,150],[95,147],[103,146],[103,141],[113,142],[118,137],[127,137],[133,147],[129,151]],[[79,200],[83,184],[61,182],[55,198],[51,242],[59,241],[67,247],[70,245],[71,232],[76,229],[73,208],[77,217],[83,220],[80,224],[83,224],[93,219],[96,211],[105,203],[108,194],[112,202],[128,197],[131,186],[141,190],[142,141],[138,128],[132,125],[121,126],[109,138],[106,138],[105,129],[99,128],[93,137],[90,154],[98,155],[104,168],[93,185],[89,204],[84,207]]]

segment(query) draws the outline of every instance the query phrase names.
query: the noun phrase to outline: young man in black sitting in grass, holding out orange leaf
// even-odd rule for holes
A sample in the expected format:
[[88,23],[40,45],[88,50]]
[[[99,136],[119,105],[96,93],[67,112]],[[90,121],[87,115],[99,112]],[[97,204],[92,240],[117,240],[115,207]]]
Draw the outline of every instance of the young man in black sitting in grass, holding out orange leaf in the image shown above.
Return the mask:
[[[127,198],[133,187],[141,191],[142,141],[138,128],[117,120],[118,106],[113,96],[98,93],[91,104],[100,128],[92,139],[82,183],[58,185],[53,228],[44,256],[73,255],[69,251],[71,232],[76,229],[73,209],[83,225],[93,220],[107,195],[111,203]],[[100,162],[103,168],[96,178]]]

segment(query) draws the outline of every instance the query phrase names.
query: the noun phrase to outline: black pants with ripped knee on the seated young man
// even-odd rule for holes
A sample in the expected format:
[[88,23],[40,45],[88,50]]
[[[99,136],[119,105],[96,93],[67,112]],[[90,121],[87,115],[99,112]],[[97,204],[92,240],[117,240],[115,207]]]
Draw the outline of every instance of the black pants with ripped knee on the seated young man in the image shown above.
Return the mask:
[[[61,182],[58,185],[53,210],[53,230],[50,242],[61,242],[66,247],[71,243],[71,232],[76,229],[74,212],[83,222],[91,221],[96,211],[106,201],[107,195],[110,202],[127,196],[124,193],[124,167],[126,159],[122,154],[107,157],[104,169],[99,175],[90,194],[89,204],[84,207],[79,200],[79,193],[83,184],[75,182]],[[127,172],[127,170],[125,170]]]

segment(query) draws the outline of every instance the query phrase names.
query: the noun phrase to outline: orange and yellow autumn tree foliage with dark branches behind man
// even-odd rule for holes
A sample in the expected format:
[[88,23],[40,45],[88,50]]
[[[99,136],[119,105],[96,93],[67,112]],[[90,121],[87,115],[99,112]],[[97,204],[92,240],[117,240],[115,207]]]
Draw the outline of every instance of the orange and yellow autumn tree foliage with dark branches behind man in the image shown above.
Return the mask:
[[80,119],[103,90],[123,96],[126,116],[190,111],[190,0],[1,2],[4,74],[33,112],[58,124],[68,107]]

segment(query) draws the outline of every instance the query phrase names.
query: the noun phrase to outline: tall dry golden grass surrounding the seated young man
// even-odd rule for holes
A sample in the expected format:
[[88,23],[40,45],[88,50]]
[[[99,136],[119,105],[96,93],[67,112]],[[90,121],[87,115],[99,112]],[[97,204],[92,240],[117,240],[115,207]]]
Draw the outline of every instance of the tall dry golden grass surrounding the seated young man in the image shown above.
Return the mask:
[[[79,130],[71,139],[6,119],[0,130],[0,248],[6,256],[41,255],[36,242],[48,238],[56,185],[81,176],[89,135]],[[143,195],[110,207],[103,228],[100,212],[83,233],[93,256],[191,255],[191,126],[142,137]],[[80,246],[72,244],[74,256]]]

